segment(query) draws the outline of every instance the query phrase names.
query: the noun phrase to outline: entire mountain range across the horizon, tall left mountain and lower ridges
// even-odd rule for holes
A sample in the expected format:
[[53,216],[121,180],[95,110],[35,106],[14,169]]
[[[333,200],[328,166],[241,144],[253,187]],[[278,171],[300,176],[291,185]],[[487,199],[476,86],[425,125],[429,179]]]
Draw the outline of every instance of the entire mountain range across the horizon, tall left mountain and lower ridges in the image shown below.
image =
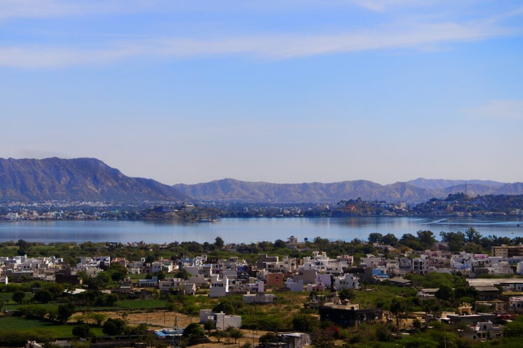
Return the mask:
[[[467,193],[521,195],[523,183],[469,180]],[[343,199],[423,202],[465,191],[464,180],[417,178],[381,185],[366,180],[274,184],[221,179],[168,186],[129,177],[94,158],[1,159],[0,202],[25,201],[236,201],[252,203],[338,202]]]

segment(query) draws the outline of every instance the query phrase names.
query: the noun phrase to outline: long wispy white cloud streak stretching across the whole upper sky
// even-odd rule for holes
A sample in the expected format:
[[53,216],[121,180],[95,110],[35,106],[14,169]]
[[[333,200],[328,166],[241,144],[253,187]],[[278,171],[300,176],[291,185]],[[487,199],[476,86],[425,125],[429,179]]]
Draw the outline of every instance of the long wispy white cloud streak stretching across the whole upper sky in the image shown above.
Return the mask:
[[408,29],[353,31],[325,35],[251,35],[240,37],[153,38],[109,42],[94,49],[47,45],[0,46],[0,66],[44,68],[104,64],[132,57],[179,58],[244,54],[258,59],[383,49],[425,50],[453,42],[472,42],[521,34],[493,23],[438,23]]

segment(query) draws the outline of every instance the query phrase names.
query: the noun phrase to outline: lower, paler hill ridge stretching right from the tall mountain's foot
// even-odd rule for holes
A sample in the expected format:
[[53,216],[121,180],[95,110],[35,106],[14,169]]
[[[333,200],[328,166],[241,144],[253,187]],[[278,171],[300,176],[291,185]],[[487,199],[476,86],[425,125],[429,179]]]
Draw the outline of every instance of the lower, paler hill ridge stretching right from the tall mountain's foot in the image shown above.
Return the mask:
[[[471,196],[523,194],[522,183],[506,184],[482,180],[466,182],[467,193]],[[418,203],[433,197],[446,197],[450,193],[464,191],[465,181],[418,178],[388,185],[366,180],[328,184],[272,184],[226,178],[193,185],[177,184],[173,187],[195,200],[206,201],[299,203],[337,202],[342,199],[361,197],[364,200]]]

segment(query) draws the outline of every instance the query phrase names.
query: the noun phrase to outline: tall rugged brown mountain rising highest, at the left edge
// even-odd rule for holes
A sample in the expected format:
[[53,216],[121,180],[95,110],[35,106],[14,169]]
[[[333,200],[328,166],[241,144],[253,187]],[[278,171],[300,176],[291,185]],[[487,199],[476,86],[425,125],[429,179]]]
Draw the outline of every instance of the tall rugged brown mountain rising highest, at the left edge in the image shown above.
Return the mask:
[[123,175],[118,169],[94,158],[0,158],[0,202],[185,199],[184,194],[171,186],[152,179]]

